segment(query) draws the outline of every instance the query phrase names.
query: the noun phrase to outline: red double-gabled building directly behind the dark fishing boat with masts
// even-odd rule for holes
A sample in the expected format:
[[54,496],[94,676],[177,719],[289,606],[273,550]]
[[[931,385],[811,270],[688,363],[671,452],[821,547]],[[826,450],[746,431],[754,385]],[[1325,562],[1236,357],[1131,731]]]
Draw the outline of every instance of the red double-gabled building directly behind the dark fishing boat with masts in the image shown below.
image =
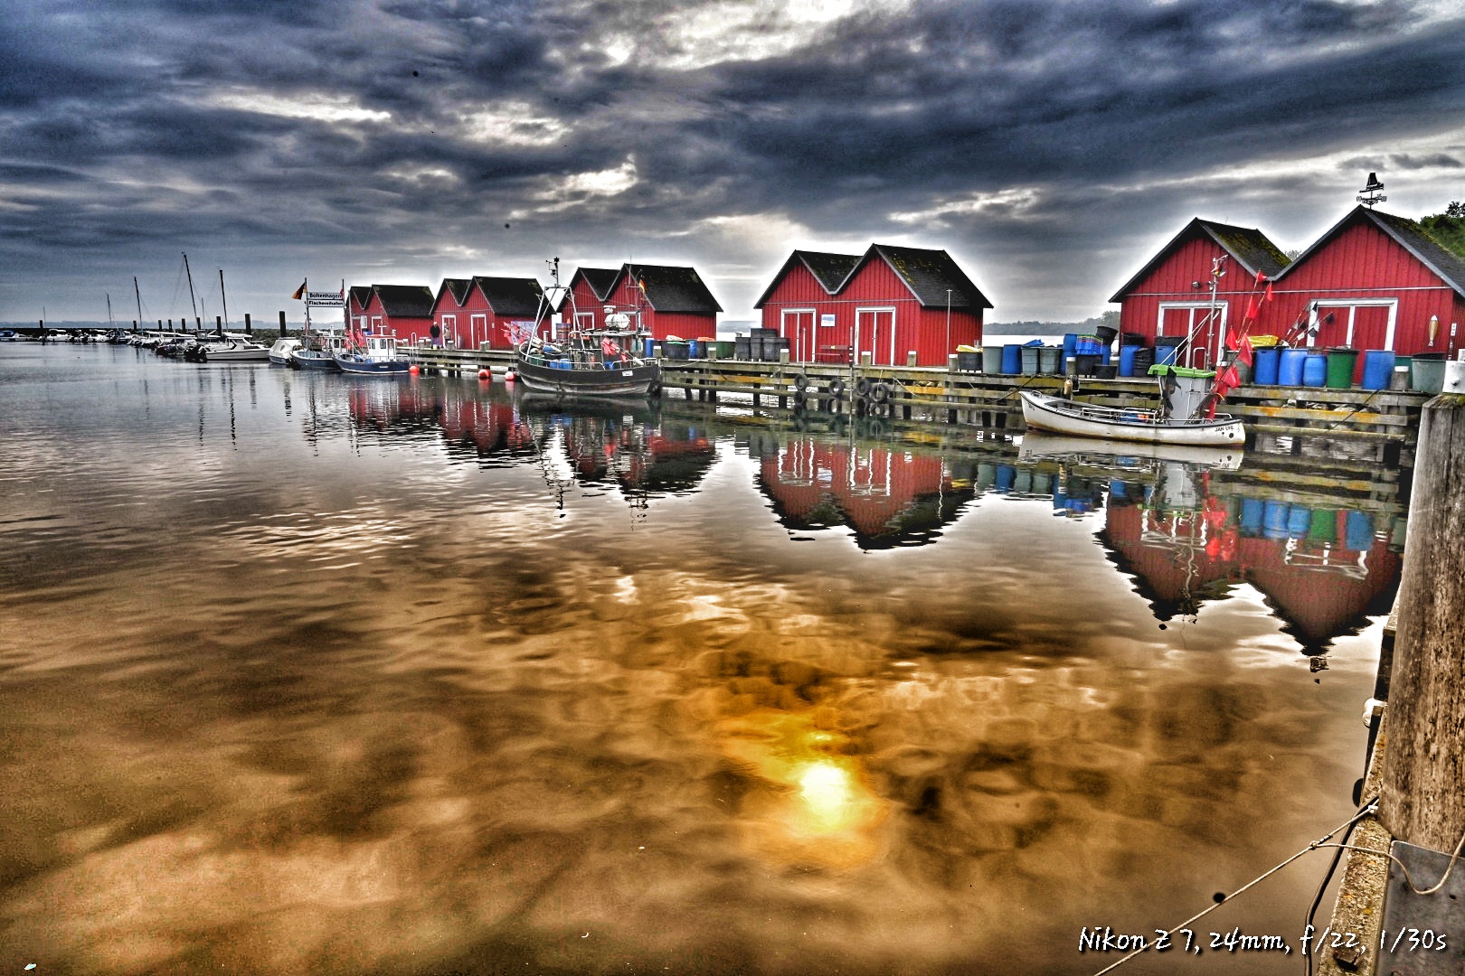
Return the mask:
[[570,299],[560,310],[565,318],[574,315],[582,328],[605,325],[605,307],[614,306],[630,315],[631,328],[643,328],[656,339],[715,337],[722,312],[696,268],[675,265],[577,268],[570,297],[573,312]]

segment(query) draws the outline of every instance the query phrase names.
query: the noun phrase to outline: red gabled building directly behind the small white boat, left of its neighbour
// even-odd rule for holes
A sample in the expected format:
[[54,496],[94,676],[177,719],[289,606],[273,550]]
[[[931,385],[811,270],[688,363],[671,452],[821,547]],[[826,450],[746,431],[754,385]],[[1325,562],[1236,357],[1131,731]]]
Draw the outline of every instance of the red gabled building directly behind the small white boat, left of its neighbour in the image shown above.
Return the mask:
[[[1210,275],[1217,258],[1225,259],[1225,275],[1213,312]],[[1245,318],[1257,294],[1257,272],[1275,278],[1286,265],[1286,255],[1260,230],[1197,217],[1109,300],[1119,303],[1121,331],[1147,342],[1157,335],[1190,335],[1187,364],[1207,367],[1220,359],[1225,328]]]

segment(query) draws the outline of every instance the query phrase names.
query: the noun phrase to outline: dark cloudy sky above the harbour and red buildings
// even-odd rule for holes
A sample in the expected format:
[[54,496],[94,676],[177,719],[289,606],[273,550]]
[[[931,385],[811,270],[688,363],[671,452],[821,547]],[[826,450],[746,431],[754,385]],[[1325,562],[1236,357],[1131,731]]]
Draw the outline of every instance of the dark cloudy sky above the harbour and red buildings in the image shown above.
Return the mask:
[[1190,218],[1465,199],[1458,0],[0,0],[0,320],[945,247],[1077,320]]

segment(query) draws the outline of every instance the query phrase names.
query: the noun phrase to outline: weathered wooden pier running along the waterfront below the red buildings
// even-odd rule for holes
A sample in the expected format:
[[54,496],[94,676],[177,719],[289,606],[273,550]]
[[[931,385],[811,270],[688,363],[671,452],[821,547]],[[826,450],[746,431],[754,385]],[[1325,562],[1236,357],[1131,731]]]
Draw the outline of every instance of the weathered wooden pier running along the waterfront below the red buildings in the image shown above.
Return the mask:
[[[508,351],[410,348],[423,369],[451,373],[502,373]],[[1154,408],[1153,379],[1065,380],[1062,376],[990,376],[929,366],[837,366],[825,363],[750,363],[741,360],[662,360],[662,397],[719,402],[750,399],[754,407],[781,407],[851,416],[880,416],[891,421],[964,424],[995,433],[1021,433],[1020,389],[1061,392],[1074,383],[1074,399],[1110,407]],[[1248,440],[1327,438],[1379,448],[1377,459],[1401,458],[1408,467],[1428,394],[1411,391],[1329,389],[1323,386],[1241,386],[1231,392],[1225,413],[1239,417]]]

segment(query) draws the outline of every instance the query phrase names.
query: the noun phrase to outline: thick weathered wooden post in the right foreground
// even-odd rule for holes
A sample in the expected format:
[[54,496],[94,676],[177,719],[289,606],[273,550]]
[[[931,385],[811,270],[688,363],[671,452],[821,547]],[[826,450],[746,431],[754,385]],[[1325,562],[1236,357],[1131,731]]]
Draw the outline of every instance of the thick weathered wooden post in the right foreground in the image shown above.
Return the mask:
[[1465,395],[1446,394],[1420,417],[1379,803],[1396,840],[1440,852],[1465,830],[1462,607]]

